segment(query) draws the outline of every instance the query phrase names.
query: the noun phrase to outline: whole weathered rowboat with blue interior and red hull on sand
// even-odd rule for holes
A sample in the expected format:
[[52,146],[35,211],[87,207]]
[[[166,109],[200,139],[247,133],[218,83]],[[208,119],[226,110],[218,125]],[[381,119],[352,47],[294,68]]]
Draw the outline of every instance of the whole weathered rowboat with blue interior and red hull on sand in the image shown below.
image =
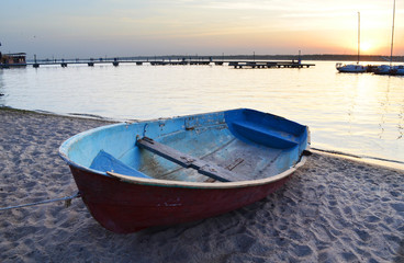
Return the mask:
[[306,126],[242,108],[99,127],[59,155],[93,218],[127,233],[257,202],[305,162],[308,144]]

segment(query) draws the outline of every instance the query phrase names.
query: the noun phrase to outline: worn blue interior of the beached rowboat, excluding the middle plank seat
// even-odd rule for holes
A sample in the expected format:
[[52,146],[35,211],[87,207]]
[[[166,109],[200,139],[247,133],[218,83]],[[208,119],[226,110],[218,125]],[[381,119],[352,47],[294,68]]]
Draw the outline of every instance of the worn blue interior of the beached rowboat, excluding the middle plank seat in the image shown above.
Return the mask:
[[[204,182],[205,175],[136,145],[148,137],[177,151],[243,174],[250,180],[294,165],[307,147],[307,127],[285,118],[240,108],[96,128],[60,147],[71,165],[148,179]],[[235,176],[234,181],[239,181]]]

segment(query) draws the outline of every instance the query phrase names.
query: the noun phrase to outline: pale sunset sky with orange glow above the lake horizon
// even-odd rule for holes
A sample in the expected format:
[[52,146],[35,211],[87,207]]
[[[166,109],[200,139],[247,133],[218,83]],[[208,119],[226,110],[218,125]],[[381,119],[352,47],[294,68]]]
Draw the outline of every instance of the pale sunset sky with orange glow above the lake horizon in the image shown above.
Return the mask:
[[[2,0],[0,52],[32,58],[390,55],[393,0]],[[404,0],[394,55],[404,56]]]

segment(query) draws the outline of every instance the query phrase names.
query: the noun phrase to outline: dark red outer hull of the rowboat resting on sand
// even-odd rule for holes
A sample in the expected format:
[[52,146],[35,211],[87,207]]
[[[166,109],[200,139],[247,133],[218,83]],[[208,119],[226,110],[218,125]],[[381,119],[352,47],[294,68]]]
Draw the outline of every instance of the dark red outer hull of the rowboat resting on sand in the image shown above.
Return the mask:
[[131,184],[72,165],[70,170],[93,218],[117,233],[224,214],[265,198],[290,178],[261,185],[199,188]]

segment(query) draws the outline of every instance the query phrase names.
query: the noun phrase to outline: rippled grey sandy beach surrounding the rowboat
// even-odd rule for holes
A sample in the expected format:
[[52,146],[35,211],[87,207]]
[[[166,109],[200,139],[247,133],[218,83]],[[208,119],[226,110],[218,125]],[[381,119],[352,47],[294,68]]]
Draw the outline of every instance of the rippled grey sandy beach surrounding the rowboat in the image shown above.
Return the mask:
[[[77,193],[58,147],[105,124],[0,110],[0,207]],[[131,235],[103,229],[79,198],[0,211],[0,262],[404,262],[403,179],[314,152],[260,202]]]

